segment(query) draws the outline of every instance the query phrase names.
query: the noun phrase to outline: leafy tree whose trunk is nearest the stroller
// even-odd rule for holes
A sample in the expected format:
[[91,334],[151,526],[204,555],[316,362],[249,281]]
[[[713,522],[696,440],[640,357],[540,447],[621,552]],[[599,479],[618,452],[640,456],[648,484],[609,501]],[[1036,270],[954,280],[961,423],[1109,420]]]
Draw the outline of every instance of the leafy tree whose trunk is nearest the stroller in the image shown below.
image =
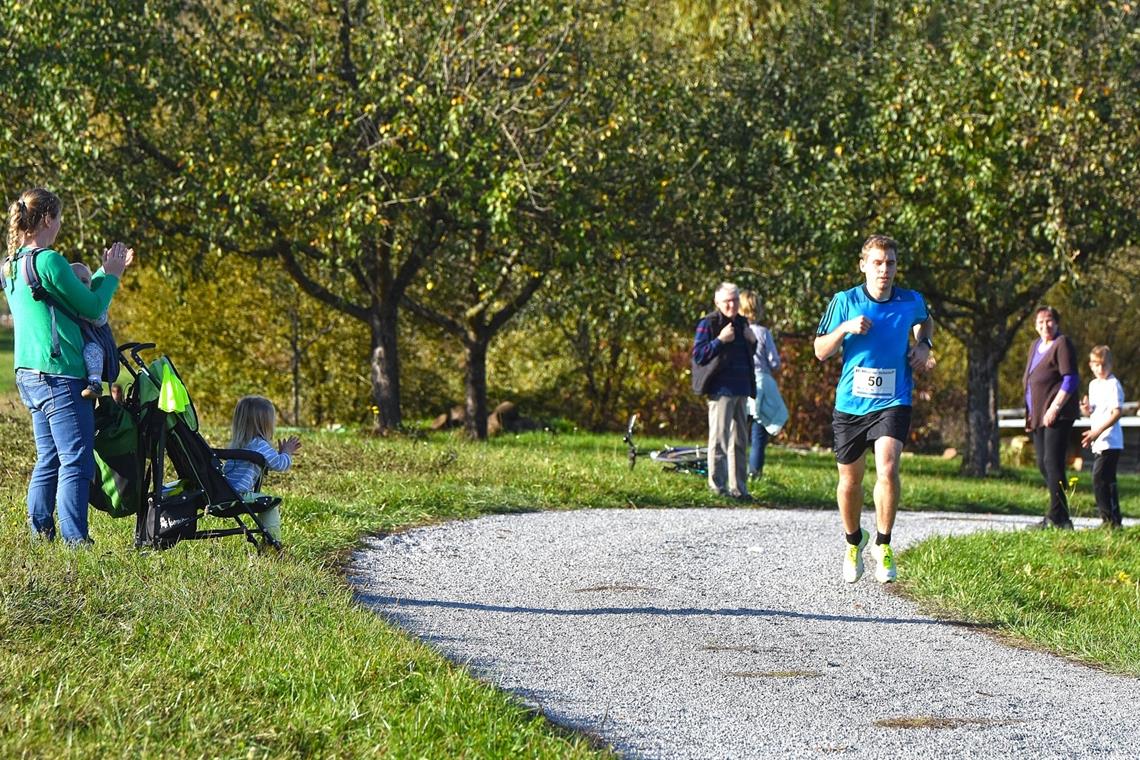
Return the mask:
[[[35,124],[76,166],[68,178],[117,177],[101,205],[171,252],[165,272],[219,250],[272,261],[367,325],[384,426],[400,420],[398,312],[421,269],[464,255],[473,229],[511,234],[578,169],[560,145],[584,71],[578,27],[592,22],[581,3],[14,11],[24,55],[48,74],[15,91],[44,106]],[[520,250],[518,237],[495,244]],[[479,269],[494,278],[498,264]]]

